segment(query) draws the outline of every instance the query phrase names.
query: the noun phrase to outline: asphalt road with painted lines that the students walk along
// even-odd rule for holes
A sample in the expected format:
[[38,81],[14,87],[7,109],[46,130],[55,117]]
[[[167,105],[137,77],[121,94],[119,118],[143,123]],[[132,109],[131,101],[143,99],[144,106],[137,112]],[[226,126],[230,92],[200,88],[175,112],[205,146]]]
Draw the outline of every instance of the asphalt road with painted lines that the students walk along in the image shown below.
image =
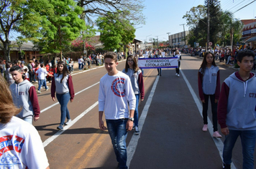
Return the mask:
[[[161,77],[157,77],[156,69],[145,69],[145,100],[139,105],[141,132],[129,132],[127,137],[129,168],[221,168],[224,137],[211,137],[210,127],[209,132],[201,130],[204,123],[197,85],[201,61],[183,54],[180,77],[175,76],[175,69],[163,69]],[[217,64],[222,83],[235,70]],[[124,62],[119,62],[117,69],[122,71]],[[68,104],[73,122],[63,131],[56,129],[60,105],[52,101],[50,90],[42,89],[38,95],[42,114],[33,125],[42,138],[50,168],[116,168],[108,132],[99,130],[98,124],[99,79],[104,74],[105,68],[96,66],[73,73],[76,96]],[[239,139],[233,162],[236,168],[242,168]]]

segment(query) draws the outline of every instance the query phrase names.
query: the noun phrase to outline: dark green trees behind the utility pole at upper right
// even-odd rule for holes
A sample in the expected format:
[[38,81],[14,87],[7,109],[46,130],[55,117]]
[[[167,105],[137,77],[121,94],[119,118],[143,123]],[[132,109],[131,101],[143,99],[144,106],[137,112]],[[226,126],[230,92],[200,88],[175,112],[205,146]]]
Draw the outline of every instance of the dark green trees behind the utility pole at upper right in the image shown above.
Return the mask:
[[[206,45],[207,3],[208,1],[205,1],[204,6],[194,6],[183,16],[191,28],[187,37],[188,44],[191,46],[194,42],[198,42],[203,47]],[[234,19],[230,12],[221,11],[219,0],[209,0],[209,9],[209,40],[213,42],[213,46],[216,44],[231,45],[234,42],[239,42],[242,36],[242,22]]]

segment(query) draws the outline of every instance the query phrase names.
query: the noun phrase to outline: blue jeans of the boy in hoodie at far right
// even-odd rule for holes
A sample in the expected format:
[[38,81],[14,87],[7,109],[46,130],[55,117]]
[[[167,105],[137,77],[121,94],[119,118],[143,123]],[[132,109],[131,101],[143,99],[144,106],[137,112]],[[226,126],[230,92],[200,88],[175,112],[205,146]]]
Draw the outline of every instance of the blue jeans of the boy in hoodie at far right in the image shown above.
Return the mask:
[[254,165],[253,154],[255,150],[256,130],[229,130],[226,136],[223,149],[223,162],[225,164],[232,163],[232,150],[240,136],[242,143],[243,169],[252,169]]

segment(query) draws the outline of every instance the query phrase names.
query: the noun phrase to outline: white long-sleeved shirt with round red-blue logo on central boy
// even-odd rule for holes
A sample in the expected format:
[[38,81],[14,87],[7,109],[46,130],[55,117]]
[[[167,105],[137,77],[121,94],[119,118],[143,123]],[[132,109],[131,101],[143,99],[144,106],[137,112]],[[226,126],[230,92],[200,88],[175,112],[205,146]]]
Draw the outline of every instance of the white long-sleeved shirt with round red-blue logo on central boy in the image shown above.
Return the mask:
[[99,82],[99,111],[104,111],[106,120],[129,117],[129,110],[135,110],[136,97],[127,74],[118,72],[114,76],[105,74]]

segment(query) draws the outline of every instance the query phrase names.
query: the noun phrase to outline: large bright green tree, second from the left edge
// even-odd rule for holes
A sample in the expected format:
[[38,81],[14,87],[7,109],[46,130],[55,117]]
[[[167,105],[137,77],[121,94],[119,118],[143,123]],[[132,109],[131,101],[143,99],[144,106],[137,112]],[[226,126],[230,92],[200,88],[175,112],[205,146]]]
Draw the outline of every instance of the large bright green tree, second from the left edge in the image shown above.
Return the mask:
[[[83,9],[73,0],[48,0],[43,7],[36,9],[42,16],[42,34],[37,45],[42,53],[60,53],[86,29],[85,22],[79,18]],[[61,57],[62,59],[62,57]]]

